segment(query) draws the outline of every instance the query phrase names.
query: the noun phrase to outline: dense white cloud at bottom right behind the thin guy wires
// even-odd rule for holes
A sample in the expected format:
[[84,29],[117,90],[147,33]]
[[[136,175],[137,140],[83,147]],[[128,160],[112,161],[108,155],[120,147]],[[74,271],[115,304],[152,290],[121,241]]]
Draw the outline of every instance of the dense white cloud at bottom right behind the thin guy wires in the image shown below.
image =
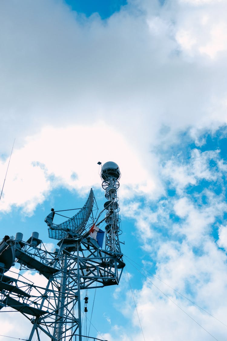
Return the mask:
[[[227,285],[227,276],[223,277],[223,273],[226,273],[226,255],[220,252],[211,241],[205,241],[203,251],[203,254],[196,255],[187,243],[178,244],[178,246],[176,243],[163,243],[157,257],[156,276],[225,323],[225,315],[222,313],[225,302],[222,297]],[[141,290],[133,290],[133,296],[145,340],[212,339],[204,329],[196,324],[197,322],[215,338],[224,341],[225,326],[174,292],[163,282],[149,276],[144,270],[142,272],[148,279],[144,282]],[[138,276],[140,276],[139,273]],[[150,281],[183,311],[168,300]],[[125,308],[123,313],[130,312],[132,316],[134,332],[129,332],[131,340],[142,340],[143,336],[130,290],[123,305]],[[122,302],[120,306],[122,306]],[[122,311],[122,308],[119,309]],[[112,335],[114,335],[114,331]]]

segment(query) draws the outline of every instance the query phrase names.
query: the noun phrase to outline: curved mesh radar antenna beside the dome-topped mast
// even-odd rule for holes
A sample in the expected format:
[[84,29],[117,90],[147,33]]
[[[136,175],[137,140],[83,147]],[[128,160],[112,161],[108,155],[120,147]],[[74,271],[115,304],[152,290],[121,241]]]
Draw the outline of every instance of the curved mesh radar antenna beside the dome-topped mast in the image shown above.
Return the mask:
[[84,231],[87,220],[91,215],[93,203],[94,193],[91,188],[88,199],[81,210],[72,218],[61,224],[53,224],[54,210],[52,209],[52,212],[45,218],[45,222],[49,226],[49,237],[60,240],[66,237],[75,237],[76,235],[80,235]]

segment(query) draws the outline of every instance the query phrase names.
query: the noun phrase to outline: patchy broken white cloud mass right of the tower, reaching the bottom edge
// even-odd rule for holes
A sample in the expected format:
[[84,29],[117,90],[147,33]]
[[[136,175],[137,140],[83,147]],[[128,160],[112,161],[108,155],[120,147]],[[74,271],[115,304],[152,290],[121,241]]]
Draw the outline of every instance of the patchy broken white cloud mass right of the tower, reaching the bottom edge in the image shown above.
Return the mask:
[[[221,159],[219,150],[201,152],[193,149],[190,157],[183,156],[185,155],[173,153],[170,156],[171,161],[167,161],[164,166],[163,180],[166,179],[170,188],[178,189],[177,195],[166,196],[158,203],[151,201],[143,206],[139,201],[130,202],[128,206],[126,202],[121,212],[135,219],[135,226],[144,242],[143,249],[149,252],[156,264],[155,275],[225,323],[225,302],[222,297],[227,287],[227,276],[223,276],[226,273],[226,254],[217,246],[226,248],[226,226],[220,226],[217,244],[212,237],[217,218],[222,219],[223,213],[227,211],[223,187],[225,162]],[[206,187],[201,185],[204,180],[208,182]],[[219,190],[216,193],[217,184]],[[189,185],[194,192],[187,192]],[[195,186],[198,186],[197,190]],[[220,193],[220,189],[223,193]],[[205,202],[202,198],[206,198]],[[171,218],[173,213],[177,216],[175,220]],[[141,290],[133,291],[133,295],[145,339],[212,339],[197,322],[216,339],[225,340],[225,326],[157,278],[141,271],[148,279]],[[196,322],[169,301],[149,280]],[[119,287],[118,300],[120,292]],[[130,290],[122,310],[128,318],[127,312],[131,313],[133,310],[131,320],[134,332],[130,331],[131,339],[142,340]],[[114,331],[111,335],[115,335]],[[115,338],[117,339],[116,336]]]

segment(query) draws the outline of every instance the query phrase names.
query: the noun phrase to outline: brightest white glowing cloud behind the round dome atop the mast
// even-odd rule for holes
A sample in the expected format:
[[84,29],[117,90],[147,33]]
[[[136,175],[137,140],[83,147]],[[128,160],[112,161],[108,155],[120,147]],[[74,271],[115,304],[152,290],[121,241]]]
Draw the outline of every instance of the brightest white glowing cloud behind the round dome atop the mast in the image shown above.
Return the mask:
[[[104,132],[109,142],[103,139]],[[82,194],[92,186],[100,187],[99,160],[119,164],[122,198],[136,193],[150,197],[159,194],[160,190],[141,164],[140,156],[112,127],[102,122],[91,126],[46,127],[40,134],[27,138],[23,148],[14,150],[1,210],[9,211],[15,205],[31,214],[36,205],[60,185]],[[7,163],[8,159],[1,165],[2,177]]]

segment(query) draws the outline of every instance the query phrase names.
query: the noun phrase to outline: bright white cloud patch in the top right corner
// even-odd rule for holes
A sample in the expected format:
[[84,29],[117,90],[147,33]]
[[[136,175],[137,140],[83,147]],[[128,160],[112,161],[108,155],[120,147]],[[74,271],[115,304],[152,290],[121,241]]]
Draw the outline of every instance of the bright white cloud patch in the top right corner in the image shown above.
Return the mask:
[[225,9],[226,2],[222,0],[179,1],[178,10],[183,16],[176,30],[176,39],[183,53],[196,58],[201,54],[216,59],[218,54],[226,52],[226,20],[222,13]]

